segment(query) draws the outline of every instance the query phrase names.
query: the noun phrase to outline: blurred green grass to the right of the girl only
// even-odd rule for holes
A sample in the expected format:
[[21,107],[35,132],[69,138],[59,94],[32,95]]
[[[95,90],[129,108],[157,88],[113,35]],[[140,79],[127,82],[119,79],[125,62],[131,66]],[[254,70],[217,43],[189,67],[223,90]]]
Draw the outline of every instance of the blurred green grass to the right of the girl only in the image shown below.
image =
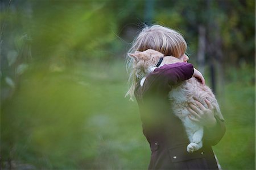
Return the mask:
[[255,86],[232,83],[224,96],[226,134],[214,151],[223,169],[255,169]]

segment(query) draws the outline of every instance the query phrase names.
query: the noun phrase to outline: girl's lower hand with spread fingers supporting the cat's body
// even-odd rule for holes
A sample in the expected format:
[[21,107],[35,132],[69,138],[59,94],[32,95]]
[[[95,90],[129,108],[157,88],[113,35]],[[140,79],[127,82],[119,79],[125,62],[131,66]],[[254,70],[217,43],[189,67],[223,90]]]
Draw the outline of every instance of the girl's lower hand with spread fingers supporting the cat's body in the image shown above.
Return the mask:
[[194,122],[198,122],[201,126],[207,128],[213,127],[216,125],[217,121],[214,117],[214,110],[212,104],[205,99],[205,102],[208,105],[204,107],[199,101],[192,103],[187,108],[190,114],[188,115],[189,119]]

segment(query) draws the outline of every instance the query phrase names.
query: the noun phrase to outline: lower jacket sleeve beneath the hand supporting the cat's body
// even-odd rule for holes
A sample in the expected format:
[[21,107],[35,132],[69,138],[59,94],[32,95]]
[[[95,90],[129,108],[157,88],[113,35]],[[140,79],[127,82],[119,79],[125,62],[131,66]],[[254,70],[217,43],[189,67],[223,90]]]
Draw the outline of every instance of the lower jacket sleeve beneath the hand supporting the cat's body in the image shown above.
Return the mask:
[[216,145],[222,137],[224,136],[226,132],[226,127],[224,121],[221,121],[220,119],[216,118],[216,126],[212,128],[206,128],[204,127],[204,142],[208,143],[211,146]]

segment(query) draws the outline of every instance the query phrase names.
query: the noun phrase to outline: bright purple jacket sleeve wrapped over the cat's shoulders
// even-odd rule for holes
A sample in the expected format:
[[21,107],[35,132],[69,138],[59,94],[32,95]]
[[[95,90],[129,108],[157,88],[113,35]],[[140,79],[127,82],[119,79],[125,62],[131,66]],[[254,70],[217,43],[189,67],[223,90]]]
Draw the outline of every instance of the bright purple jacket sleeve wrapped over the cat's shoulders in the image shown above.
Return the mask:
[[193,73],[192,64],[175,63],[156,68],[154,72],[150,73],[149,77],[154,78],[155,82],[159,82],[160,86],[171,87],[179,84],[181,81],[188,80],[193,76]]

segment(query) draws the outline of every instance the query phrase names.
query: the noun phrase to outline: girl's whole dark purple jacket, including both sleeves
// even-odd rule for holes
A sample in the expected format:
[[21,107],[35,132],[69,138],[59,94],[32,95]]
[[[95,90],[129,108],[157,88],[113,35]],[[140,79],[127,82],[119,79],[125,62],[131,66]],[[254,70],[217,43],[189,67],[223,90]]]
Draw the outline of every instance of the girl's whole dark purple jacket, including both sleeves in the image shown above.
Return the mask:
[[203,148],[188,153],[189,140],[185,128],[171,113],[168,92],[192,75],[192,64],[168,64],[148,74],[143,86],[137,84],[135,97],[143,134],[151,148],[148,169],[218,169],[212,146],[225,134],[224,122],[216,118],[215,127],[204,128]]

